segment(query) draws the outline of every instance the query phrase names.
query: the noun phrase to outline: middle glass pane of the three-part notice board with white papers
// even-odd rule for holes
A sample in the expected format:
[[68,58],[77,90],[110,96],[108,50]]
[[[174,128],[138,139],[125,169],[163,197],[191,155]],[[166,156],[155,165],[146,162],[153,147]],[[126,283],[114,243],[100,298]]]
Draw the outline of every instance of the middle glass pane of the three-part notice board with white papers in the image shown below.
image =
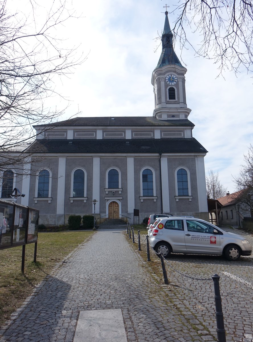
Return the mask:
[[26,238],[27,208],[15,206],[14,226],[13,226],[13,245],[22,244]]

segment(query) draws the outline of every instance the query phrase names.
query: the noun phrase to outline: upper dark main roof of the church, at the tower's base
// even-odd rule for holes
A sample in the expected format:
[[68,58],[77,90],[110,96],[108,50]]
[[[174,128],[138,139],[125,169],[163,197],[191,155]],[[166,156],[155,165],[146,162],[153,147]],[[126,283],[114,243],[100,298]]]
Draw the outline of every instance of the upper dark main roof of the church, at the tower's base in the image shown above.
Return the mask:
[[[188,119],[158,120],[153,116],[76,117],[38,126],[194,126]],[[37,126],[34,126],[37,127]]]

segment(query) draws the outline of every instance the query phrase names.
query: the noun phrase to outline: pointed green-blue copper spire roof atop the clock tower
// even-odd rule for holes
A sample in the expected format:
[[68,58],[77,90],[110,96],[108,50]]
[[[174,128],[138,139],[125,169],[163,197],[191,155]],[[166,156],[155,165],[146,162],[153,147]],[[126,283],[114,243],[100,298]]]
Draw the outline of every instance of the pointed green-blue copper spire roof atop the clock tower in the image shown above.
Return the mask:
[[156,69],[161,68],[165,65],[178,65],[183,68],[183,65],[180,63],[178,56],[175,54],[173,50],[172,38],[173,38],[173,34],[170,29],[168,12],[166,11],[164,31],[163,31],[163,35],[161,36],[163,50],[161,51],[161,56],[156,66]]

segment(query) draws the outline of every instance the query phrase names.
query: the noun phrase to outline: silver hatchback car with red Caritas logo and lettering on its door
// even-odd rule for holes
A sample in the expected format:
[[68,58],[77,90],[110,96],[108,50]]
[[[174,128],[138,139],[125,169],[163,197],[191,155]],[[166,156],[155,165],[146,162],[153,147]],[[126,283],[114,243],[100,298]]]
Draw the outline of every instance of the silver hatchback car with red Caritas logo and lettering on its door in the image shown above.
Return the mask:
[[228,233],[200,219],[171,217],[161,219],[149,235],[150,245],[157,253],[225,255],[228,260],[239,260],[251,255],[252,246],[243,236]]

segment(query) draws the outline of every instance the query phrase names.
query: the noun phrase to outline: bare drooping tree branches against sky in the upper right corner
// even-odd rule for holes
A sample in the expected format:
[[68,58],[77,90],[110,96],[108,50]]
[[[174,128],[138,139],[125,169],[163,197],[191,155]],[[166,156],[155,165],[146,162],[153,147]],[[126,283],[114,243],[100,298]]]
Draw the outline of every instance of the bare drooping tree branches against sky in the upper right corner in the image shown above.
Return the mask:
[[[190,45],[197,56],[213,60],[221,73],[240,67],[253,71],[253,3],[245,0],[181,0],[170,13],[176,15],[175,39]],[[195,44],[185,28],[199,34]]]

